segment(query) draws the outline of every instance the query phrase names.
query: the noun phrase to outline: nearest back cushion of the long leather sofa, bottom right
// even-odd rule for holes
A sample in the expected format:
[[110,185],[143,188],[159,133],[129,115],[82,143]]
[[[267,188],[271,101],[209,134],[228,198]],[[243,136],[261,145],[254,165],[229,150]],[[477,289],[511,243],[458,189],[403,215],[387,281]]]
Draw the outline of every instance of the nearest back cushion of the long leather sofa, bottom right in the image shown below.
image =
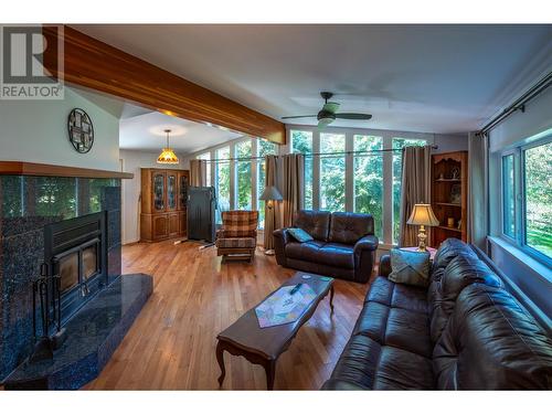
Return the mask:
[[458,296],[433,364],[442,390],[552,389],[552,340],[505,289],[479,283]]

